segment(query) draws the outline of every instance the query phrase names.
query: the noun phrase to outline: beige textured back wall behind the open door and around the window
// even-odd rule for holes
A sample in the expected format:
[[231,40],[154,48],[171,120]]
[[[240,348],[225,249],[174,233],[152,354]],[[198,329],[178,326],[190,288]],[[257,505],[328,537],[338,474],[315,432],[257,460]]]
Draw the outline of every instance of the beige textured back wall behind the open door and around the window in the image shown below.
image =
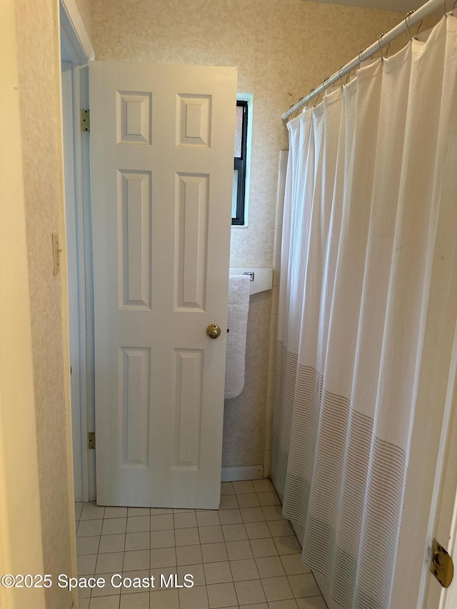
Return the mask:
[[[96,59],[238,67],[252,93],[248,228],[233,228],[231,266],[273,266],[281,113],[369,46],[401,14],[301,0],[91,0]],[[246,389],[226,403],[224,465],[263,463],[271,294],[251,298]],[[255,328],[255,330],[254,330]],[[268,430],[267,430],[268,431]]]

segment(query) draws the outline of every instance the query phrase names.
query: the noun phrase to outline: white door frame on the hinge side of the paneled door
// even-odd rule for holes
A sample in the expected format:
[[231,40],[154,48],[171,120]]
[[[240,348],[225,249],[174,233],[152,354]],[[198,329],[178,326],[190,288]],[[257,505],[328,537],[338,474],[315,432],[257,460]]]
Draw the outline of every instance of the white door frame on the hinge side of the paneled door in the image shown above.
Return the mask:
[[81,108],[89,108],[88,65],[94,59],[89,34],[75,0],[60,0],[62,104],[64,129],[71,134],[65,148],[66,173],[71,176],[66,201],[66,255],[69,267],[69,331],[71,374],[71,418],[74,456],[75,499],[95,500],[95,455],[87,448],[87,433],[94,429],[93,280],[91,271],[89,135],[80,128]]

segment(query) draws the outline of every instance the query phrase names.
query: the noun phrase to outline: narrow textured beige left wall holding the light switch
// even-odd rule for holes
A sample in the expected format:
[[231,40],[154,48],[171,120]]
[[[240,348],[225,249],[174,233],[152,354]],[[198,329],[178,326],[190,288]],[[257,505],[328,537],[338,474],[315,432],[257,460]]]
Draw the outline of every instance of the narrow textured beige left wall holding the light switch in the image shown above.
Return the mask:
[[[31,338],[36,401],[44,573],[71,574],[69,505],[69,362],[65,278],[54,276],[51,233],[64,244],[59,4],[16,0]],[[70,445],[71,446],[71,445]],[[26,506],[24,505],[24,508]],[[71,607],[71,593],[51,586],[46,606]]]

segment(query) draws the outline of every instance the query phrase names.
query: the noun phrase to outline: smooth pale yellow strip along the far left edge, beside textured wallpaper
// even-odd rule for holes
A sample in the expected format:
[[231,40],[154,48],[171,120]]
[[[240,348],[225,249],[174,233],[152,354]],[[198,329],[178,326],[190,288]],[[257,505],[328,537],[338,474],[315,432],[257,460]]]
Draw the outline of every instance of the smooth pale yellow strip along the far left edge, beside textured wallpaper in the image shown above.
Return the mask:
[[[0,10],[0,573],[43,573],[14,0]],[[0,607],[45,607],[0,585]]]

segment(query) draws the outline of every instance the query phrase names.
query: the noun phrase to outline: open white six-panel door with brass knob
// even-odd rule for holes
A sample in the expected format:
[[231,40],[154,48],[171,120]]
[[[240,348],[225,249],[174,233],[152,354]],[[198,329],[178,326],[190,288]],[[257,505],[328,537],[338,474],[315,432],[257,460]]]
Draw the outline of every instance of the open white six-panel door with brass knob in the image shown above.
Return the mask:
[[236,69],[95,61],[90,98],[97,503],[216,508]]

